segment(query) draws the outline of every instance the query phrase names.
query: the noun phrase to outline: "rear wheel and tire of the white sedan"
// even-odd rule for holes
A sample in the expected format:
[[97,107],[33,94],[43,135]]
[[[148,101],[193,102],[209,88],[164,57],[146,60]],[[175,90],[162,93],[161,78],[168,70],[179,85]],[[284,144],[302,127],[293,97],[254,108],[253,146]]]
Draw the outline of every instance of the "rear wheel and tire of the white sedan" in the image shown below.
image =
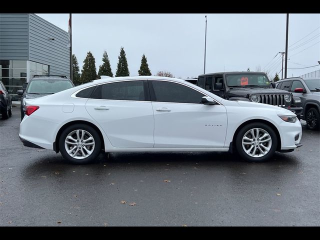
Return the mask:
[[[70,137],[74,140],[71,140]],[[90,137],[93,139],[88,140]],[[81,144],[81,146],[78,144],[81,142],[81,139],[84,141],[83,143],[85,145]],[[78,142],[76,140],[78,140]],[[99,134],[94,128],[85,124],[68,126],[62,131],[58,142],[61,155],[65,160],[72,164],[90,163],[99,155],[101,150],[101,139]],[[67,152],[66,148],[70,150],[74,149],[71,151],[71,155]]]

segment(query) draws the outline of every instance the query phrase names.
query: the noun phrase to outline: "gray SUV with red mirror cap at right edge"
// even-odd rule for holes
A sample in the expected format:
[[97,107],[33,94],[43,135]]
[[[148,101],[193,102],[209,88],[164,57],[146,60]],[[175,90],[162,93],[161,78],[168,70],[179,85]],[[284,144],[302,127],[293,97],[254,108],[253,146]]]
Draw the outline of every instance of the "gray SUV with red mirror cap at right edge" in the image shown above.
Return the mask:
[[300,118],[306,121],[307,128],[320,129],[320,77],[288,77],[277,81],[276,88],[300,97],[303,107]]

